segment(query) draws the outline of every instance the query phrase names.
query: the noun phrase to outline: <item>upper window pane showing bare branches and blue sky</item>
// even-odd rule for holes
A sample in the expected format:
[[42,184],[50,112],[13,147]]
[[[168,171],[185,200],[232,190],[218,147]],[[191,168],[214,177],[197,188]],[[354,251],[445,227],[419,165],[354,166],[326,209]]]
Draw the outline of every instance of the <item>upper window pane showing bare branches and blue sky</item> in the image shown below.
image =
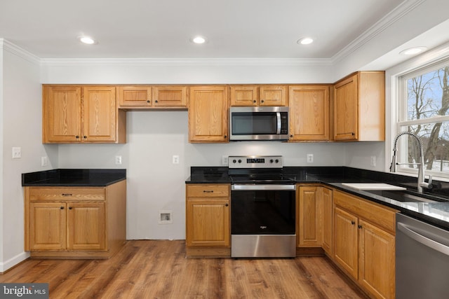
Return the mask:
[[449,67],[407,80],[407,118],[418,120],[449,115]]

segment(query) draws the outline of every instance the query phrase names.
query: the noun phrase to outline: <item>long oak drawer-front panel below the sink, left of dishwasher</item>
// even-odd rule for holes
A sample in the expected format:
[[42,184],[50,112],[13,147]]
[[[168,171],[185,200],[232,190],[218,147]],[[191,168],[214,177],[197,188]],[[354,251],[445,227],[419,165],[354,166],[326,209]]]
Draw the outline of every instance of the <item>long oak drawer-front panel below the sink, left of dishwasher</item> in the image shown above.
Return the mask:
[[340,191],[334,193],[334,204],[395,235],[396,210],[381,207],[378,204]]

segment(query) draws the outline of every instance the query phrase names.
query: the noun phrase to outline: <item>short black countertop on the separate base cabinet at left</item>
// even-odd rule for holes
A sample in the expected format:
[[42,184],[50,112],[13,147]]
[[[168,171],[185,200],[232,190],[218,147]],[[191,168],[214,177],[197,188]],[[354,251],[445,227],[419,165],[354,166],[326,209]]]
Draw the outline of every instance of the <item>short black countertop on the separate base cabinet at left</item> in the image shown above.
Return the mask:
[[22,186],[104,187],[126,179],[126,169],[53,169],[22,174]]

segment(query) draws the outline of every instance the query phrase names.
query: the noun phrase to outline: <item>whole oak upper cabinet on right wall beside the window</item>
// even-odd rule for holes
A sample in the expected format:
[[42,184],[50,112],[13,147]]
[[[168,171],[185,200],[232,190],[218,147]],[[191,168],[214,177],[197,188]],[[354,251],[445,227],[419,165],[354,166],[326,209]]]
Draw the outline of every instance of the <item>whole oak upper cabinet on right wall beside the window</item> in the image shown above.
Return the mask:
[[359,71],[335,83],[334,139],[385,140],[384,71]]

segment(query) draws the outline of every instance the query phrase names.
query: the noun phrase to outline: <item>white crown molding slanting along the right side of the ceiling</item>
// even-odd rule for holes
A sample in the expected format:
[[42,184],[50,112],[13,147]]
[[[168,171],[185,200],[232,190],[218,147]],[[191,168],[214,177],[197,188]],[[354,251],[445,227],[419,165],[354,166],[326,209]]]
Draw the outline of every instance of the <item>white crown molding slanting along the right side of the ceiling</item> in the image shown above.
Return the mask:
[[345,57],[351,55],[351,53],[354,53],[358,50],[358,48],[361,48],[363,45],[368,43],[368,41],[374,39],[375,36],[384,32],[385,29],[389,28],[395,22],[403,18],[404,15],[407,15],[410,11],[413,11],[417,6],[420,6],[425,1],[426,0],[403,1],[396,8],[394,8],[393,11],[387,13],[384,18],[377,21],[375,25],[371,26],[363,32],[363,34],[354,39],[354,41],[351,41],[351,43],[342,48],[342,50],[340,50],[337,54],[333,55],[333,57],[330,58],[331,64],[340,62]]

